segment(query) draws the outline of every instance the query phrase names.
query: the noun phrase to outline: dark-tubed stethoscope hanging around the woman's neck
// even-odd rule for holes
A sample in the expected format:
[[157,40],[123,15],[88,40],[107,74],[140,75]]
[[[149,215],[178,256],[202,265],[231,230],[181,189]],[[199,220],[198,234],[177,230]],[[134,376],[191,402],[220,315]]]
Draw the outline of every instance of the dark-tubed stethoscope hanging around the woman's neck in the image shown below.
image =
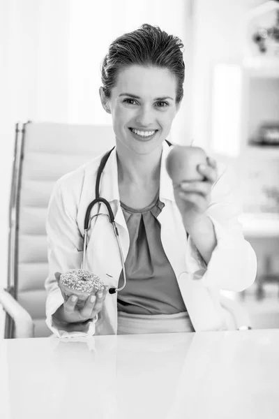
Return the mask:
[[[172,145],[171,142],[165,140],[167,142],[167,144],[169,145],[169,147]],[[110,154],[112,152],[112,150],[115,148],[112,147],[112,149],[107,152],[105,154],[105,156],[103,156],[102,160],[100,161],[100,166],[98,167],[98,172],[97,172],[97,179],[96,179],[96,186],[95,186],[95,196],[96,198],[89,204],[89,206],[87,207],[86,210],[86,214],[85,214],[85,219],[84,219],[84,236],[83,236],[83,258],[82,258],[82,269],[85,269],[85,260],[86,260],[86,249],[87,249],[87,233],[89,230],[89,218],[90,218],[90,212],[92,210],[93,205],[95,205],[96,203],[103,203],[105,204],[105,206],[107,207],[107,212],[108,212],[108,217],[110,219],[110,223],[112,223],[112,227],[114,229],[114,235],[116,237],[117,240],[117,244],[119,247],[119,253],[120,253],[120,257],[121,257],[121,265],[122,265],[122,272],[123,272],[123,286],[121,286],[121,288],[109,288],[109,293],[110,294],[114,294],[114,293],[119,293],[119,291],[122,291],[123,288],[126,286],[126,269],[125,269],[125,260],[123,257],[123,251],[122,251],[122,247],[121,247],[121,243],[119,240],[119,233],[114,221],[114,213],[112,212],[112,207],[110,206],[110,203],[107,202],[107,200],[105,200],[105,198],[100,198],[100,177],[103,173],[103,170],[105,168],[105,163],[107,163],[107,159],[110,157]],[[98,216],[98,214],[96,215]]]

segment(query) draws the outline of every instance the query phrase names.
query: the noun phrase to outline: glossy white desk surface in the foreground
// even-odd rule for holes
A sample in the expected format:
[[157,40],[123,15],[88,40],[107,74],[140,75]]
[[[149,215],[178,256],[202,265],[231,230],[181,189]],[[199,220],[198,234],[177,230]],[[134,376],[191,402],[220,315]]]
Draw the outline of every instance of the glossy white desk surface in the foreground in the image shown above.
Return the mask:
[[2,339],[1,419],[278,419],[279,330]]

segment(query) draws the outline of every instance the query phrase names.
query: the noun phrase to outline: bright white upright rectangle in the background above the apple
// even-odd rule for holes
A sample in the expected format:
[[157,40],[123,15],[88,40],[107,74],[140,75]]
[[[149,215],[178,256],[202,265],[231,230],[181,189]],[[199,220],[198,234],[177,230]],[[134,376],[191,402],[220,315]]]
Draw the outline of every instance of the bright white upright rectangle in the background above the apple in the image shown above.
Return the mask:
[[241,66],[218,64],[213,73],[211,148],[238,156],[241,139]]

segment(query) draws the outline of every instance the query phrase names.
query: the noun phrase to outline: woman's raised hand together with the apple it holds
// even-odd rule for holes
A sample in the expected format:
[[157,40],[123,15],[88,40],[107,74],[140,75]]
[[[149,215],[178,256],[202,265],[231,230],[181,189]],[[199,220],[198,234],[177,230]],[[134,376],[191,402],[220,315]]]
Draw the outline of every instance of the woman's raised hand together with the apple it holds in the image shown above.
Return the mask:
[[211,187],[217,179],[216,161],[199,147],[175,145],[167,156],[166,168],[176,205],[190,229],[209,205]]

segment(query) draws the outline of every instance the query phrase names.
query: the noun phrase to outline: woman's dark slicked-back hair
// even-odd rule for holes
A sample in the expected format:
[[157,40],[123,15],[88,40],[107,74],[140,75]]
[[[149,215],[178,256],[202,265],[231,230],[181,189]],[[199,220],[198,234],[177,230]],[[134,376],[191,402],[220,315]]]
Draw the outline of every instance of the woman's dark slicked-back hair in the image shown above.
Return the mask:
[[143,24],[128,34],[116,38],[101,66],[102,83],[105,96],[110,98],[111,89],[116,84],[120,68],[131,65],[168,68],[176,77],[176,104],[183,98],[185,64],[183,43],[180,38],[168,35],[160,27]]

